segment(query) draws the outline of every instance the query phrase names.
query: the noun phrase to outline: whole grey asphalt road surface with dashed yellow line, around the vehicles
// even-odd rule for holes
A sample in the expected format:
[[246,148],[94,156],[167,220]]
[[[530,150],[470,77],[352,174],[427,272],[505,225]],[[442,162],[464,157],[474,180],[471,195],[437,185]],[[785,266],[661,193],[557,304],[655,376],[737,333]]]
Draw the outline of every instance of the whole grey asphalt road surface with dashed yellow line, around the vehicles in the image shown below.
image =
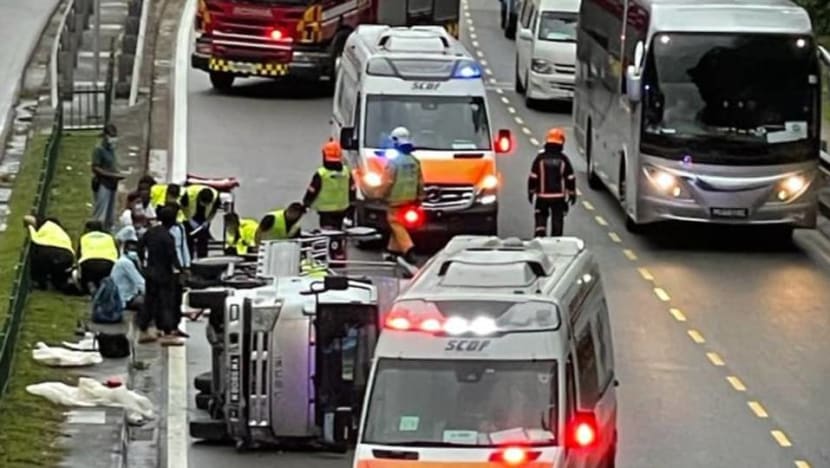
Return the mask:
[[[529,111],[513,93],[514,44],[498,28],[497,8],[496,0],[470,0],[465,41],[493,73],[494,127],[511,128],[519,144],[500,161],[501,234],[529,236],[530,138],[571,126],[570,109]],[[255,81],[219,96],[203,73],[189,79],[189,170],[238,176],[242,215],[258,217],[299,198],[328,135],[330,100]],[[830,276],[765,232],[668,226],[649,238],[629,235],[610,197],[587,189],[584,161],[569,149],[584,190],[566,234],[598,255],[612,305],[619,466],[830,466],[823,388],[830,382]],[[207,369],[209,353],[200,325],[190,329],[192,378]],[[200,444],[190,452],[190,466],[199,468],[341,468],[349,461]]]

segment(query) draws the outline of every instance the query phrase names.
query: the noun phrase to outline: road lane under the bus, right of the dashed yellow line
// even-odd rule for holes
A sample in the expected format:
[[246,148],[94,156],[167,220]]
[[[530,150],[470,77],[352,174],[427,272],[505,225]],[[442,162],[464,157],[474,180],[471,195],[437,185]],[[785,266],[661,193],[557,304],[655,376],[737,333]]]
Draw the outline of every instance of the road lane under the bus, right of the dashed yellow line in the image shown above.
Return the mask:
[[[512,80],[515,43],[503,37],[497,16],[475,13],[478,38],[495,79]],[[515,93],[507,94],[536,135],[544,135],[565,116],[570,120],[562,113],[570,112],[569,106],[534,111]],[[575,146],[569,145],[568,154],[584,172]],[[587,187],[584,174],[579,185]],[[632,236],[625,232],[619,203],[608,192],[586,193],[584,198],[640,257],[640,268],[668,291],[672,304],[694,320],[709,342],[708,352],[721,358],[718,367],[739,375],[750,387],[749,398],[771,416],[760,419],[771,419],[770,427],[786,428],[790,442],[807,458],[830,464],[823,436],[830,429],[830,410],[820,399],[830,375],[824,359],[830,352],[824,339],[830,331],[830,317],[824,313],[830,303],[826,272],[792,242],[775,237],[775,230],[668,224],[649,229],[647,236]]]

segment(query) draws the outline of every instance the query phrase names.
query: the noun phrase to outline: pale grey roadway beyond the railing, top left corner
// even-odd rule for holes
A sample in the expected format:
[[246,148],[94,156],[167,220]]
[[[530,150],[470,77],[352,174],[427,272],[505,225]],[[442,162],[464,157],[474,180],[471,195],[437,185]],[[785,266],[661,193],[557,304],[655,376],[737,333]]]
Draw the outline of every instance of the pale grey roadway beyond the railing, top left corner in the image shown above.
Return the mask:
[[0,133],[15,104],[17,85],[57,0],[0,1]]

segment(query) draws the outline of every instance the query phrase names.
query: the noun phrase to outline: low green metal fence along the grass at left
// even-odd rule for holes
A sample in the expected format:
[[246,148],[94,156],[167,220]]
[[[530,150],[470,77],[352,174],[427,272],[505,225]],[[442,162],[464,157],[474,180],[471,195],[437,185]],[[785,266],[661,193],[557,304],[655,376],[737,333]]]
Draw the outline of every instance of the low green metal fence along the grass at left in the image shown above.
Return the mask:
[[[60,144],[63,128],[63,108],[58,106],[55,109],[55,121],[52,125],[52,134],[43,152],[43,166],[35,194],[35,202],[32,210],[39,216],[46,215],[47,203],[49,200],[49,187],[55,175],[55,166],[60,154]],[[21,188],[22,189],[22,188]],[[6,392],[11,375],[14,351],[17,345],[17,338],[20,332],[20,323],[23,321],[23,312],[26,307],[26,300],[29,298],[31,280],[29,278],[29,252],[31,243],[26,243],[20,252],[20,257],[15,266],[16,275],[12,284],[12,291],[9,296],[8,315],[6,323],[0,332],[0,395]]]

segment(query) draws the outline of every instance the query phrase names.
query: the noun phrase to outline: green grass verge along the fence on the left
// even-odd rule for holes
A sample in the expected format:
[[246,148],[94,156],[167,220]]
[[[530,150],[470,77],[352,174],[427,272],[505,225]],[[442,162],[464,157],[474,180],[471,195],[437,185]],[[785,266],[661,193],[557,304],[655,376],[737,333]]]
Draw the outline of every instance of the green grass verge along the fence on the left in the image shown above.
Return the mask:
[[[25,164],[18,176],[12,205],[18,217],[29,212],[34,198],[37,177],[46,137],[38,135],[29,145]],[[77,239],[89,217],[89,162],[92,148],[98,142],[94,134],[67,134],[61,143],[55,177],[49,195],[48,213],[60,219],[69,234]],[[31,192],[27,194],[27,192]],[[18,195],[19,194],[19,195]],[[21,201],[17,201],[20,198]],[[9,222],[15,229],[22,225],[19,219]],[[0,250],[0,286],[9,288],[11,272],[5,266],[7,258],[16,261],[26,232],[3,234]],[[5,293],[8,296],[8,292]],[[5,306],[6,302],[0,303]],[[89,311],[89,301],[84,297],[69,297],[53,292],[33,291],[26,305],[21,333],[14,356],[12,378],[8,393],[0,401],[0,466],[4,468],[52,467],[61,459],[60,423],[66,408],[30,395],[26,386],[44,381],[76,382],[71,371],[46,367],[32,360],[31,349],[38,341],[49,344],[71,339],[76,321]]]

